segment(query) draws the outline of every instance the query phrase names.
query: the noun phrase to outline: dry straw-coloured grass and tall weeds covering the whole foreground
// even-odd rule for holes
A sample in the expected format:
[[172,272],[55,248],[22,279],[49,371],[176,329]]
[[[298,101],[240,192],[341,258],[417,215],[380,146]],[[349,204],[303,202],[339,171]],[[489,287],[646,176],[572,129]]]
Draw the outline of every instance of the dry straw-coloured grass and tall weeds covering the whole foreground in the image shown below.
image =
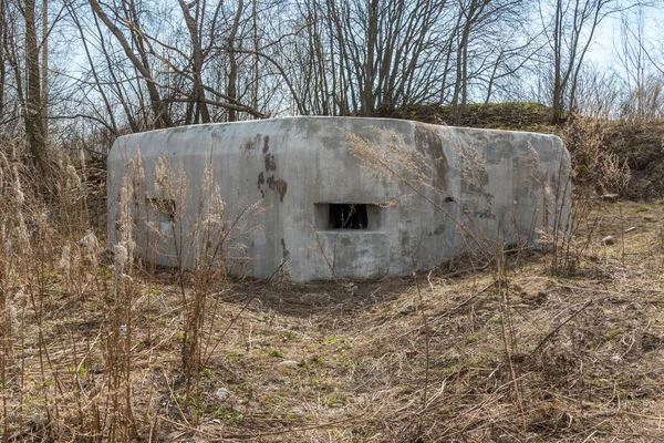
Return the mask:
[[[664,205],[577,217],[573,272],[517,246],[485,267],[293,285],[228,278],[209,250],[191,271],[131,259],[145,195],[129,178],[108,254],[101,198],[69,166],[49,206],[0,157],[3,441],[664,439]],[[194,226],[215,247],[230,230],[204,182]]]

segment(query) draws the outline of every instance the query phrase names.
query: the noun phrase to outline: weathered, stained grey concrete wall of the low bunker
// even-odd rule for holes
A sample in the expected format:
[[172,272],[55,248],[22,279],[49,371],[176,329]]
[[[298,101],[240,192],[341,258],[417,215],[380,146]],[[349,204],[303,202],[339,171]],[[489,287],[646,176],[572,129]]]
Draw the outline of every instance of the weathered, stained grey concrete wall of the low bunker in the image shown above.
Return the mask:
[[[369,171],[380,162],[363,164],[346,134],[383,151],[401,178]],[[403,143],[388,143],[395,140]],[[236,230],[245,235],[234,240],[250,259],[234,261],[231,271],[259,278],[271,276],[286,257],[283,269],[297,281],[405,275],[414,262],[418,270],[430,269],[467,248],[517,240],[535,245],[540,229],[554,227],[557,213],[564,225],[570,212],[570,157],[557,136],[387,119],[289,117],[117,138],[108,156],[111,243],[120,240],[122,177],[136,152],[148,198],[158,197],[156,164],[166,156],[188,178],[178,208],[193,214],[207,198],[199,183],[208,165],[226,218],[235,219],[249,205],[266,208],[238,224]],[[398,161],[395,153],[402,153]],[[426,179],[400,164],[411,157],[427,161]],[[366,229],[330,229],[324,204],[347,203],[370,205]],[[151,249],[138,220],[137,254],[174,265],[173,233],[190,231],[194,222],[138,212],[152,218],[163,238],[158,250]]]

